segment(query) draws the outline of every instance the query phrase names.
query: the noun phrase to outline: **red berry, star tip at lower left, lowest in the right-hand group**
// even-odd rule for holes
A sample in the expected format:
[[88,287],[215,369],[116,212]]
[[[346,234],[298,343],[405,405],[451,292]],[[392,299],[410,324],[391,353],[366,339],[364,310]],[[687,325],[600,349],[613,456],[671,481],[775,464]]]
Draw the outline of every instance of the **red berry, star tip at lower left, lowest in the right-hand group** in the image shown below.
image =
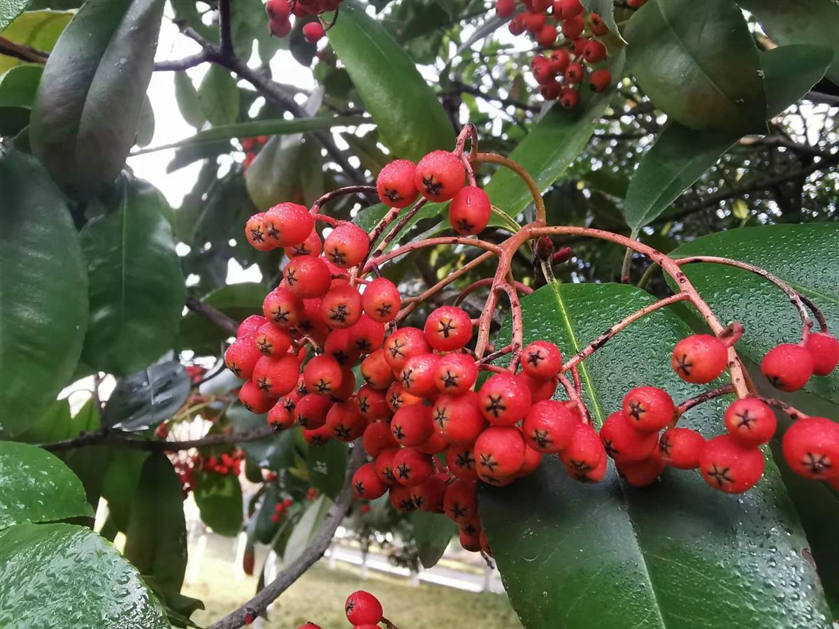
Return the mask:
[[705,444],[699,468],[702,478],[714,489],[739,494],[763,476],[763,452],[740,444],[730,434],[720,434]]

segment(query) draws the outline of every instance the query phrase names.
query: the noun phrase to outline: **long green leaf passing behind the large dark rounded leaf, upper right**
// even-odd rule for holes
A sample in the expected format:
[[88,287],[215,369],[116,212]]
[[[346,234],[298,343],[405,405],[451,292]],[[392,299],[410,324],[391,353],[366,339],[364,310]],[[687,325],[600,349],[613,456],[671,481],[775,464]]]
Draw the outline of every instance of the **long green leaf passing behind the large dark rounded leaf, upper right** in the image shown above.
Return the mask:
[[[761,55],[769,117],[804,96],[824,76],[832,55],[824,46],[791,45]],[[626,221],[648,225],[737,142],[737,132],[698,131],[670,121],[638,164],[626,195]]]

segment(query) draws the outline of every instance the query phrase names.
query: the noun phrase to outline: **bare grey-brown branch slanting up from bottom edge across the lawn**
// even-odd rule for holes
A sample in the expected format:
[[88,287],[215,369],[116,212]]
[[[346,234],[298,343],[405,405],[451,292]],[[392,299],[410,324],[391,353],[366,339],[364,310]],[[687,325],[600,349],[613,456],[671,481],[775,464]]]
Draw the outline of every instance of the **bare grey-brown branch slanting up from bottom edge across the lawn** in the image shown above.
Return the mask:
[[326,517],[315,538],[312,539],[311,543],[300,554],[300,557],[277,574],[276,579],[265,585],[263,590],[260,590],[256,596],[248,600],[247,603],[237,610],[230,612],[220,621],[211,624],[207,629],[237,629],[237,627],[244,626],[245,616],[255,617],[262,613],[279,595],[285,590],[288,590],[294,581],[300,579],[300,576],[326,553],[326,548],[329,548],[336,529],[341,524],[344,516],[347,515],[347,510],[352,503],[352,475],[355,474],[355,471],[361,465],[364,458],[365,453],[362,448],[361,439],[356,439],[352,449],[352,456],[347,464],[344,486],[341,489],[341,493],[338,494],[335,504],[326,512]]

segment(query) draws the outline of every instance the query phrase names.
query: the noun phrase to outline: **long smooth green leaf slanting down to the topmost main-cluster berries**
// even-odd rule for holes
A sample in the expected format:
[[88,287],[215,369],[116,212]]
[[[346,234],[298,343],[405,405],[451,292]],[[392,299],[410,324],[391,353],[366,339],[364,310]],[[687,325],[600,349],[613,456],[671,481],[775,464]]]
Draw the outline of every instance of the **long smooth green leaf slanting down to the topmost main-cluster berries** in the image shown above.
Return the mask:
[[394,157],[417,160],[451,148],[454,132],[445,110],[382,23],[356,3],[343,3],[326,35]]

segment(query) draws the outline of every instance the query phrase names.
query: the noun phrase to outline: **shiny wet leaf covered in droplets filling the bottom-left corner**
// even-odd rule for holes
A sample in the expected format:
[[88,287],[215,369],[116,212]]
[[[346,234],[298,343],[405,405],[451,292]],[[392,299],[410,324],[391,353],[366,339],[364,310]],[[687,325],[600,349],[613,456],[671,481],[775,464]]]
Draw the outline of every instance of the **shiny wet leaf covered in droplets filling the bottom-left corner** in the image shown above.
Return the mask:
[[169,629],[163,607],[111,543],[69,524],[0,533],[0,626]]

